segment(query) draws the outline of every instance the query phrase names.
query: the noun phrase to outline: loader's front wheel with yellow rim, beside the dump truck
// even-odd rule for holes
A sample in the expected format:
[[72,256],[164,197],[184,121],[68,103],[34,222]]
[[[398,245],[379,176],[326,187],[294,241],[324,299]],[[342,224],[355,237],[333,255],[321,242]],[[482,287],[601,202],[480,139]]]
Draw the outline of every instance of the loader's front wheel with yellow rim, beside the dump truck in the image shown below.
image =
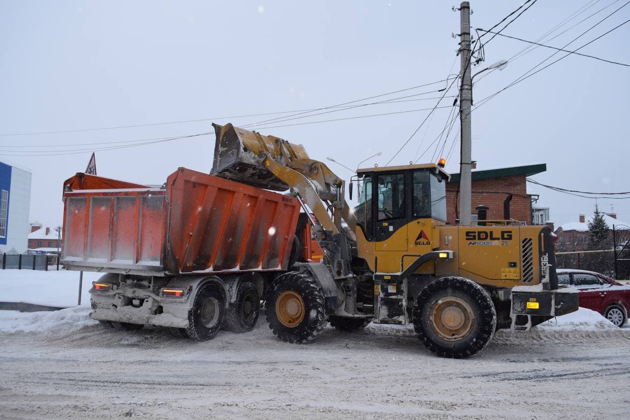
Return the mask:
[[278,276],[266,295],[266,318],[282,341],[307,343],[326,326],[324,293],[307,273],[290,271]]

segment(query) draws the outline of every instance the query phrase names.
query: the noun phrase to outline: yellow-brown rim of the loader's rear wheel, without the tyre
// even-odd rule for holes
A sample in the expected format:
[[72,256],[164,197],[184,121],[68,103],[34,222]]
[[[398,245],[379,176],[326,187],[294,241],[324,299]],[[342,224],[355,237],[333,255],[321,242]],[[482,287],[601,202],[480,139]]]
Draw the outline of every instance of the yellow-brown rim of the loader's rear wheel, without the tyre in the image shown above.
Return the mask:
[[433,331],[442,339],[457,341],[473,331],[473,309],[460,298],[454,296],[440,298],[431,306],[429,316]]

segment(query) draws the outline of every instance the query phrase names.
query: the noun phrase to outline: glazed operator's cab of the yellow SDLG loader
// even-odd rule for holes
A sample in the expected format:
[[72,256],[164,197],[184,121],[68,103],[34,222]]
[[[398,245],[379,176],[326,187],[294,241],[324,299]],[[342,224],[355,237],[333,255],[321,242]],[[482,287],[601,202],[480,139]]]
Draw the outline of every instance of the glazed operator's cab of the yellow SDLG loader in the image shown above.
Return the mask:
[[[371,167],[359,169],[357,178],[360,195],[354,213],[367,241],[386,241],[401,227],[418,219],[445,224],[446,183],[450,176],[442,167],[436,164]],[[394,251],[391,247],[389,244]]]

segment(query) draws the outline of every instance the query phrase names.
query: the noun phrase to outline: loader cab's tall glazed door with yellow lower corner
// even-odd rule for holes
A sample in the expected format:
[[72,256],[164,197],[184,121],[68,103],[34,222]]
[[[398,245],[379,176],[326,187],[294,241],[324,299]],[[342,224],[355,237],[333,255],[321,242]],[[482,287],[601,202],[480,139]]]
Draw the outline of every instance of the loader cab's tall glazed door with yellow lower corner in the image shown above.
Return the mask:
[[405,174],[376,175],[376,251],[407,250]]

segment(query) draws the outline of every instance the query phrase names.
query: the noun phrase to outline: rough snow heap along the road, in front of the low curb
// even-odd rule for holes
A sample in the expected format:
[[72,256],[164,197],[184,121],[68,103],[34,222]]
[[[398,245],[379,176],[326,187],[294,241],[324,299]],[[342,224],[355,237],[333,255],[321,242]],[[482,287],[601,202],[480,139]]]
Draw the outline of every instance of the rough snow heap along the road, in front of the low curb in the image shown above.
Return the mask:
[[0,310],[0,332],[45,332],[56,329],[81,328],[98,323],[91,319],[88,307],[50,312],[18,312]]

